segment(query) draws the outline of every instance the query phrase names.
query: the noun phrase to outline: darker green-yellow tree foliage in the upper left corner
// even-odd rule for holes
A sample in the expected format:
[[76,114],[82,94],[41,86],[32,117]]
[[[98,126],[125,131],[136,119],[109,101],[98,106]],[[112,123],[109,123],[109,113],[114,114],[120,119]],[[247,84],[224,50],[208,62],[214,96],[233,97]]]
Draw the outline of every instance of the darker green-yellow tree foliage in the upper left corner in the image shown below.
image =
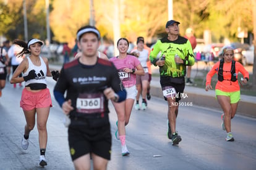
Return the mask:
[[[30,0],[26,1],[27,7],[27,23],[28,23],[28,37],[45,39],[45,0]],[[1,2],[0,4],[4,4]],[[5,16],[3,25],[5,30],[4,35],[10,40],[16,38],[24,40],[24,26],[23,26],[23,6],[22,1],[12,0],[8,1],[4,6],[3,15]],[[1,27],[1,26],[0,26]]]

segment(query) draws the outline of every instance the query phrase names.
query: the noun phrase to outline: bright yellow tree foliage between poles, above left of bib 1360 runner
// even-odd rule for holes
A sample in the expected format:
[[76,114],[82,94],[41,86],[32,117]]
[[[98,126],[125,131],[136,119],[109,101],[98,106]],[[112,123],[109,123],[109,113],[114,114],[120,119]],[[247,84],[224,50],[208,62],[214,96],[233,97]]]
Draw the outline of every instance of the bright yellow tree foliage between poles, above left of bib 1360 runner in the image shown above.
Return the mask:
[[50,14],[54,40],[74,45],[77,30],[89,23],[89,1],[55,0]]

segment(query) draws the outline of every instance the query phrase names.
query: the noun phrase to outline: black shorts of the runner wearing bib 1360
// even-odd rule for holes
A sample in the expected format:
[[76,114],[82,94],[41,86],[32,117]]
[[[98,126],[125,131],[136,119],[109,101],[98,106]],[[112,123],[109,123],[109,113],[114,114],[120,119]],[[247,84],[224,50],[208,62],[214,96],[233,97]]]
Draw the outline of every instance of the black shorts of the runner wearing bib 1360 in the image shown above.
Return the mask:
[[112,145],[110,124],[97,128],[69,127],[68,133],[72,161],[90,152],[110,160]]

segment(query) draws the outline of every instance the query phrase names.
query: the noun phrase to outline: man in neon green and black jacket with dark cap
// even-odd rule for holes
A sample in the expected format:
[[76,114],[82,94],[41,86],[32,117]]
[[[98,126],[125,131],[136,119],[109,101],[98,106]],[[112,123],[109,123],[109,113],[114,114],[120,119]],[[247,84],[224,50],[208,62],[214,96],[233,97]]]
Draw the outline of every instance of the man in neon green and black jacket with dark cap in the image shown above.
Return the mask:
[[[168,138],[173,145],[178,145],[181,142],[181,136],[176,131],[179,101],[185,96],[186,67],[193,66],[195,59],[189,40],[179,36],[179,22],[169,20],[165,30],[168,36],[156,42],[150,61],[160,68],[160,84],[164,100],[168,101]],[[161,57],[158,58],[160,52]]]

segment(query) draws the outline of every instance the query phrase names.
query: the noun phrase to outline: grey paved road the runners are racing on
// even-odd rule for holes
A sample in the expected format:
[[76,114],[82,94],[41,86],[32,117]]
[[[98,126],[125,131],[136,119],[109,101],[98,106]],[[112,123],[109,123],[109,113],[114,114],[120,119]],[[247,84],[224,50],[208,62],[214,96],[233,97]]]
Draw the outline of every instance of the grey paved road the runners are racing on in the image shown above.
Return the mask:
[[[54,81],[48,79],[51,91],[53,86]],[[7,83],[0,98],[0,169],[41,169],[36,126],[28,150],[20,147],[25,125],[19,108],[21,92],[22,88],[14,89]],[[63,114],[54,98],[53,105],[48,119],[45,169],[74,169]],[[232,122],[235,141],[226,142],[220,111],[183,106],[177,119],[182,142],[174,147],[166,137],[166,102],[153,97],[148,105],[147,111],[132,111],[126,137],[130,156],[122,157],[121,144],[114,137],[117,117],[109,103],[113,146],[108,169],[255,169],[256,119],[236,116]]]

